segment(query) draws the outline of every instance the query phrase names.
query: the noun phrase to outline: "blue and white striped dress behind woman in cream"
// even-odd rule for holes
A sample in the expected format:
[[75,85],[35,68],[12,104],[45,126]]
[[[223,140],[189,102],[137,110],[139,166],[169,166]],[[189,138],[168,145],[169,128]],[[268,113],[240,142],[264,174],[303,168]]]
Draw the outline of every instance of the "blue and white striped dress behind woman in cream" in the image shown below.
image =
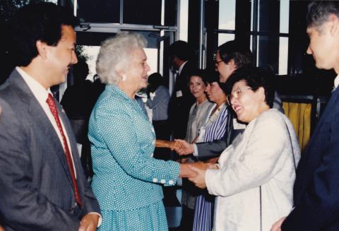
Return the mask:
[[[225,103],[220,105],[217,111],[210,115],[206,126],[201,129],[203,132],[202,142],[220,140],[224,136],[228,115],[228,109]],[[196,202],[194,204],[194,231],[212,230],[213,208],[214,196],[207,194],[207,192],[206,194],[196,196]]]

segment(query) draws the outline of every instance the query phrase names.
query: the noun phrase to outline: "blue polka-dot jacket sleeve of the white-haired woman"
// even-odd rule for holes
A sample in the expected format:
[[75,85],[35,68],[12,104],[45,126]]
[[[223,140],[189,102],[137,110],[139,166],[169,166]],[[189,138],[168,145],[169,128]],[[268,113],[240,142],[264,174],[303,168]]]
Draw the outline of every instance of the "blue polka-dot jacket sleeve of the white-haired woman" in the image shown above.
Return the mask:
[[[131,177],[147,182],[173,185],[177,182],[180,165],[174,161],[152,158],[149,152],[152,140],[140,141],[141,136],[151,136],[150,131],[140,129],[136,118],[121,109],[104,109],[97,112],[97,132],[119,166]],[[138,118],[137,118],[138,119]],[[148,143],[144,140],[149,141]],[[148,152],[148,153],[147,153]]]

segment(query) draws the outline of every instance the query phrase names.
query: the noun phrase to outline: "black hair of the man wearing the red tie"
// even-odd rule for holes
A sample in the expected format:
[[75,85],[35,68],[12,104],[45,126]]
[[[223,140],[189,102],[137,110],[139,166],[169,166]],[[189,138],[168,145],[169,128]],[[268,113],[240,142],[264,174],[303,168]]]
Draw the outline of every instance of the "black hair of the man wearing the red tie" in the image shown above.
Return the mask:
[[61,25],[77,24],[78,19],[64,6],[41,2],[20,8],[11,20],[11,55],[16,65],[28,66],[37,57],[37,41],[57,46]]

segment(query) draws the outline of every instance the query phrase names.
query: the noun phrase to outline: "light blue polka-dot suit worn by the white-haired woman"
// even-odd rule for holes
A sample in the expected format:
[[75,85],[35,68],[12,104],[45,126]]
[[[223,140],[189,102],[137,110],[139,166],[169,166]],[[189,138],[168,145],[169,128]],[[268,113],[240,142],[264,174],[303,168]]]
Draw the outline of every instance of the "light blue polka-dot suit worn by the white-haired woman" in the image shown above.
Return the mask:
[[107,85],[90,116],[88,137],[99,230],[168,230],[160,185],[176,184],[180,166],[153,158],[154,129],[136,100]]

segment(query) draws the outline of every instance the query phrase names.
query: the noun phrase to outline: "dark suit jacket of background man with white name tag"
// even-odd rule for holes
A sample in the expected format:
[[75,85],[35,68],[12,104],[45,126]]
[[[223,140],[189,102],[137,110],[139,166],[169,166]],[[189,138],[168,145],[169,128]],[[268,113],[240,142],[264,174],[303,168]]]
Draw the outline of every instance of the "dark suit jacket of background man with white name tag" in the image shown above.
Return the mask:
[[[169,122],[174,132],[174,138],[186,137],[187,122],[189,122],[189,110],[196,99],[189,91],[189,77],[197,68],[191,61],[187,61],[182,72],[175,81],[174,90],[169,100]],[[177,97],[181,91],[182,96]]]

